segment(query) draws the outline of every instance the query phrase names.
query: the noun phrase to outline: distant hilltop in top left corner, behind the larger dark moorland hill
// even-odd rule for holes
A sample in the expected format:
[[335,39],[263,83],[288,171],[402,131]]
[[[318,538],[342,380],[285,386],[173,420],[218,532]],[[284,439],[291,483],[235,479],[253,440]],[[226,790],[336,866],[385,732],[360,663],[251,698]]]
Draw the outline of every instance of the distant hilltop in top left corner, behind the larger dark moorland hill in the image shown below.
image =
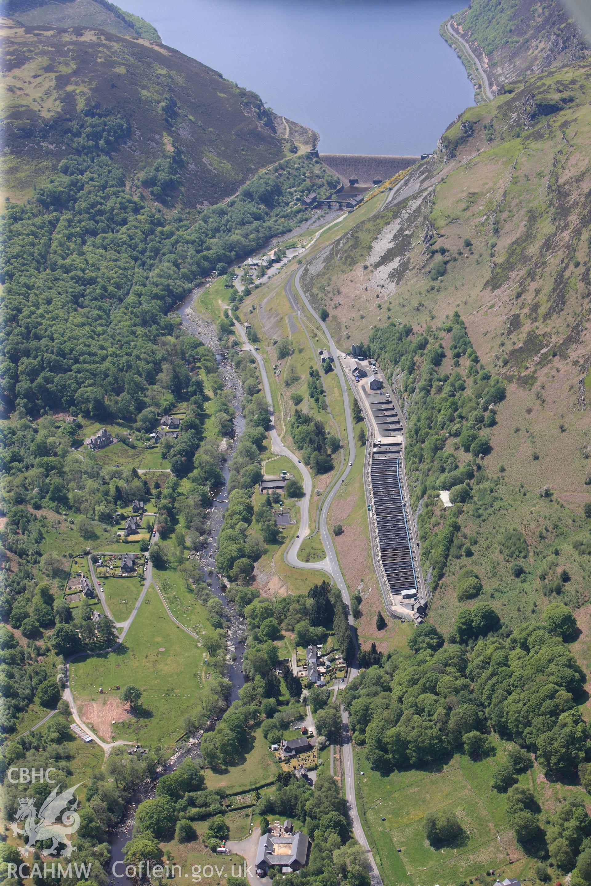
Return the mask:
[[109,0],[5,0],[3,14],[20,25],[100,27],[111,34],[162,43],[153,25]]

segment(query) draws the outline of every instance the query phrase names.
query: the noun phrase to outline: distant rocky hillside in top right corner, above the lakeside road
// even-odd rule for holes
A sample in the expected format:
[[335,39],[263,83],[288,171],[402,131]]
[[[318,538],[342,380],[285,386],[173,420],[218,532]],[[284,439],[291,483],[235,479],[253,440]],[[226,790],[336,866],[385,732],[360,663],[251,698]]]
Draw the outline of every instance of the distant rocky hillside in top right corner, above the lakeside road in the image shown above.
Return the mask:
[[494,89],[589,55],[579,26],[559,0],[471,0],[453,21]]

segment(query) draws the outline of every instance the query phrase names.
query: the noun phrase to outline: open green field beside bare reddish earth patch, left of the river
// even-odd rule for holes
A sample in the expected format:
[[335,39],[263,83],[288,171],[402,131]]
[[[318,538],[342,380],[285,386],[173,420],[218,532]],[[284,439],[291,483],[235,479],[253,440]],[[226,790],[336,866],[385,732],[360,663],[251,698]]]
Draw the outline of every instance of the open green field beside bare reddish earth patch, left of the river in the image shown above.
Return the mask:
[[[162,651],[161,651],[162,650]],[[70,685],[79,711],[85,702],[119,696],[109,687],[130,683],[142,689],[144,711],[113,727],[113,740],[170,746],[182,733],[183,717],[197,706],[204,650],[168,617],[153,587],[145,595],[124,644],[102,656],[70,665]],[[103,687],[104,695],[98,688]]]

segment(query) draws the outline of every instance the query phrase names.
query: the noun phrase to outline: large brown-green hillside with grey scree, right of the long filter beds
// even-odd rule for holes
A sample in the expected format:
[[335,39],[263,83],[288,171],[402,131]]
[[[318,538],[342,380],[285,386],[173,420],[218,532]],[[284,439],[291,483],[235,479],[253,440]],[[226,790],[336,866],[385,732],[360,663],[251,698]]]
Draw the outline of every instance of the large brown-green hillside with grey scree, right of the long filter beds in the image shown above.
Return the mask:
[[[448,456],[451,470],[464,462],[482,469],[479,489],[488,498],[466,507],[443,560],[450,555],[433,613],[446,627],[457,610],[455,573],[468,565],[464,556],[473,555],[485,595],[517,584],[517,594],[503,597],[506,618],[520,618],[520,610],[555,591],[573,606],[588,599],[589,98],[589,66],[579,63],[470,108],[442,137],[439,153],[394,188],[385,209],[320,253],[304,277],[315,303],[329,310],[334,337],[342,346],[369,339],[372,354],[393,372],[409,421],[424,428],[410,460],[414,506],[423,499],[424,544],[446,517],[430,498],[429,489],[447,483],[432,473],[440,464],[435,454]],[[390,319],[397,325],[385,325]],[[430,367],[426,387],[421,346],[408,351],[398,340],[411,328],[417,340],[426,334],[423,349],[432,341],[429,359],[440,367],[440,381]],[[439,413],[446,380],[457,370],[470,390],[475,367],[500,377],[506,390],[493,420],[481,414],[487,405],[478,408],[482,393],[459,411],[452,398]],[[456,439],[466,422],[483,431],[482,458],[470,460]],[[459,517],[457,510],[462,506],[453,509]],[[506,530],[525,540],[518,583],[513,548],[502,554]],[[563,569],[570,573],[565,582],[558,580]]]

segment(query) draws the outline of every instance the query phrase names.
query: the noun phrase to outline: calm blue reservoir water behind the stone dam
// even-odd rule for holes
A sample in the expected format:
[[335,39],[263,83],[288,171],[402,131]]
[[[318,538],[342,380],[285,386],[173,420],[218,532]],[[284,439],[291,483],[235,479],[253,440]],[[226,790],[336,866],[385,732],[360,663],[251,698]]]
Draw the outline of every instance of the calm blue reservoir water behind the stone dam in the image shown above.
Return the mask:
[[431,152],[474,104],[439,25],[463,0],[126,0],[164,43],[320,133],[323,152]]

